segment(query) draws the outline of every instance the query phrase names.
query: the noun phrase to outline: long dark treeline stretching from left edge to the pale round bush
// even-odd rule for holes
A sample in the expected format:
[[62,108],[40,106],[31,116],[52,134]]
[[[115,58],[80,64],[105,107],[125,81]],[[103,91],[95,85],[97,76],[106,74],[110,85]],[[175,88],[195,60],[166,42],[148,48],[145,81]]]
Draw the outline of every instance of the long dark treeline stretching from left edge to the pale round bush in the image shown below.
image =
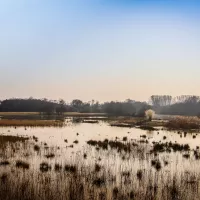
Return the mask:
[[151,106],[146,102],[137,102],[127,99],[123,102],[105,102],[100,104],[98,101],[83,102],[79,99],[66,103],[64,100],[48,99],[6,99],[0,102],[0,112],[40,112],[41,114],[59,114],[64,112],[81,113],[107,113],[110,115],[122,116],[144,116],[145,110]]

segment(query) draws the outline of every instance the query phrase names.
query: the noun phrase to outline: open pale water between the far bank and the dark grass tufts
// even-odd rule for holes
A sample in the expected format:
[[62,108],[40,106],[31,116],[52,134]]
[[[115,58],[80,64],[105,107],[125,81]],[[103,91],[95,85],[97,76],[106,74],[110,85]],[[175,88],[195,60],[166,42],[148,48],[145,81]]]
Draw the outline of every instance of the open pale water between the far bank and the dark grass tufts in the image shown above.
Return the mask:
[[[106,122],[99,122],[95,124],[90,123],[72,123],[68,120],[66,126],[58,127],[4,127],[1,128],[1,134],[5,135],[20,135],[20,136],[36,136],[39,141],[47,142],[49,145],[66,146],[65,139],[68,140],[68,145],[73,144],[73,141],[78,140],[77,148],[81,148],[88,140],[104,140],[116,137],[122,139],[139,140],[141,135],[146,135],[149,142],[177,142],[179,144],[189,144],[191,148],[196,148],[200,145],[200,134],[188,133],[186,136],[182,133],[178,134],[177,131],[166,131],[159,128],[158,131],[146,131],[139,128],[121,128],[111,127]],[[193,138],[193,136],[196,138]],[[166,139],[163,140],[163,137]]]

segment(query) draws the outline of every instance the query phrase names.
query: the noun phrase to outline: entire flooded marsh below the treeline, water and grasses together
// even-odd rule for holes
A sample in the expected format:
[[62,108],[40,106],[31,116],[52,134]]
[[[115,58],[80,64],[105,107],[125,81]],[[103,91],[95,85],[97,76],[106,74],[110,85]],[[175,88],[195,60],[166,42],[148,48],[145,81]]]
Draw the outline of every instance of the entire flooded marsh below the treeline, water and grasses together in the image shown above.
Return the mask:
[[199,118],[149,114],[2,113],[0,199],[199,199]]

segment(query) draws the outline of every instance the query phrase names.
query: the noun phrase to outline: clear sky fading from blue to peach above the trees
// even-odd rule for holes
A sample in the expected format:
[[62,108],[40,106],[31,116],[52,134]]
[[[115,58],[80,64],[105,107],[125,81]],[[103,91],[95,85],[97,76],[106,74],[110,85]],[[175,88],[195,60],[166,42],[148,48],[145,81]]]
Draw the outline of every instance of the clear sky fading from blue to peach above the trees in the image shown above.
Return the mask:
[[0,99],[200,95],[199,0],[0,0]]

